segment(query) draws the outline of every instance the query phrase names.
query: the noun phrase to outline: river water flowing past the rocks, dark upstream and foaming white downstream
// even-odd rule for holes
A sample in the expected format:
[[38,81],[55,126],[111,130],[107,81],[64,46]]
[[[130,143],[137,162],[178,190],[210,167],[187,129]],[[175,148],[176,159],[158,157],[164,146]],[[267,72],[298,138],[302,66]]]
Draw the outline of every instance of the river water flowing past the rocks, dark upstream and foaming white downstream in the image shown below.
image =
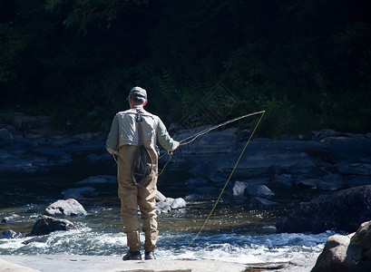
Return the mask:
[[[20,215],[15,223],[0,224],[0,233],[8,228],[30,232],[44,209],[62,199],[63,189],[94,175],[115,175],[112,162],[89,164],[83,154],[63,167],[40,175],[2,174],[0,219]],[[158,188],[167,197],[184,198],[190,194],[184,182],[190,178],[187,165],[170,165],[159,178]],[[104,185],[99,196],[81,200],[88,212],[85,217],[68,218],[78,228],[56,231],[47,236],[0,239],[0,255],[76,254],[123,255],[126,238],[120,221],[117,185]],[[221,188],[220,188],[221,189]],[[275,201],[279,209],[250,209],[246,199],[223,194],[216,209],[197,236],[219,193],[210,193],[185,209],[159,215],[160,236],[157,257],[168,259],[207,258],[238,263],[284,262],[295,258],[313,258],[322,251],[332,232],[318,235],[276,233],[275,222],[295,208],[295,203],[310,199],[310,191],[281,191]],[[143,237],[141,237],[143,240]],[[194,241],[192,242],[192,240]]]

